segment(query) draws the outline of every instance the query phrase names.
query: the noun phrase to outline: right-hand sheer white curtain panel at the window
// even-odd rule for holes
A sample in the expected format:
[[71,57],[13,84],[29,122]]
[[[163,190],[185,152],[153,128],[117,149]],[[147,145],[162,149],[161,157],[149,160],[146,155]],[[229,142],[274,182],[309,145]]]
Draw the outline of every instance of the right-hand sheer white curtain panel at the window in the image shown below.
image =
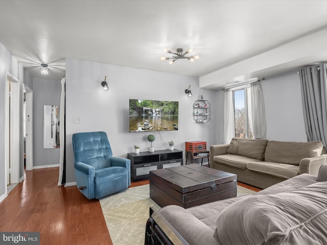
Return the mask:
[[265,139],[267,133],[266,111],[264,97],[259,81],[250,84],[246,88],[247,109],[249,117],[249,127],[253,138]]

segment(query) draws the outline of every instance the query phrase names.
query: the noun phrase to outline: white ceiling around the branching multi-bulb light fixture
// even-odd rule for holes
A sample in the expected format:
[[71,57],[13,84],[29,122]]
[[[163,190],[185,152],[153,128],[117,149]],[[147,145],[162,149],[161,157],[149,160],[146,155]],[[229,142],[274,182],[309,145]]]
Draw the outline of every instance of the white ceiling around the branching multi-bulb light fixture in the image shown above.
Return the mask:
[[[326,29],[326,12],[327,1],[0,1],[0,43],[33,78],[46,63],[61,79],[65,58],[202,77]],[[160,61],[178,47],[200,59]]]

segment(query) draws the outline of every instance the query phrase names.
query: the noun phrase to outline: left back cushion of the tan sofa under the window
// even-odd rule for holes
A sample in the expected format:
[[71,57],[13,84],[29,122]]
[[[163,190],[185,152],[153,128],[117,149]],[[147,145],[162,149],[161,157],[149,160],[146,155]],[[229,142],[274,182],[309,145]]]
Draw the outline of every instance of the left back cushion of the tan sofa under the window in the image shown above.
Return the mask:
[[266,139],[232,138],[227,153],[262,160],[265,154]]

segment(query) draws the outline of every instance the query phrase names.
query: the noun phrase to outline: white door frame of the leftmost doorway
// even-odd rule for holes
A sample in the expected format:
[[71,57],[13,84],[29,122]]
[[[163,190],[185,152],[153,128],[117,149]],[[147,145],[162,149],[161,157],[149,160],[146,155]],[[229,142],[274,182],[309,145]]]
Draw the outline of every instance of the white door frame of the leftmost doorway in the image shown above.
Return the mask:
[[[11,82],[11,96],[9,96],[9,82]],[[9,184],[19,182],[19,162],[20,162],[20,141],[22,140],[20,133],[20,81],[14,77],[10,72],[6,71],[6,84],[5,84],[5,170],[6,170],[6,192],[8,184],[8,164],[11,159],[11,178]],[[9,100],[11,100],[11,108],[9,111]],[[10,113],[11,112],[11,113]],[[8,118],[11,116],[11,142],[9,147],[9,124]],[[22,156],[21,156],[22,158]]]

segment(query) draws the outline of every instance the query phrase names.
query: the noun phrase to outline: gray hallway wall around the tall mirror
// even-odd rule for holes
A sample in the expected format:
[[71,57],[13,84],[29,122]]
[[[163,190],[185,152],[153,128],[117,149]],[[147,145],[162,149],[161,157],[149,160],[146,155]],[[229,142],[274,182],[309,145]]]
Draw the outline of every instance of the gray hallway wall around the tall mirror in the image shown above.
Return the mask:
[[60,106],[61,82],[33,79],[33,167],[59,164],[60,149],[43,149],[43,106]]

